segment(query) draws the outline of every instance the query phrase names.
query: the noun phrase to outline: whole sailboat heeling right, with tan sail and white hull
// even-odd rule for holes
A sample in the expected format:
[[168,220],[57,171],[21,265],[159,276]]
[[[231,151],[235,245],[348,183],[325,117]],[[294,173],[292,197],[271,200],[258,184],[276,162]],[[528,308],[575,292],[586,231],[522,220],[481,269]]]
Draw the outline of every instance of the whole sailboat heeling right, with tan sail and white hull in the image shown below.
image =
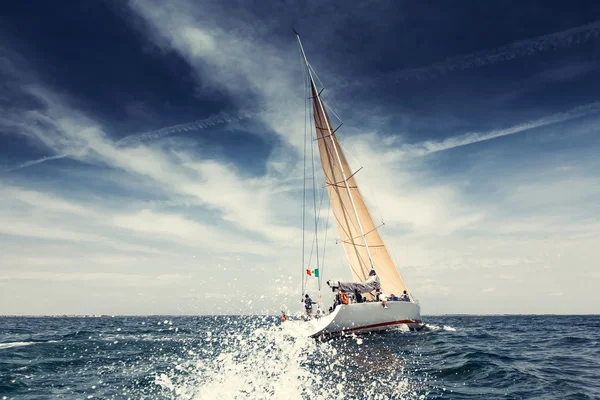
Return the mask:
[[[355,180],[358,171],[350,169],[336,135],[339,127],[332,127],[321,97],[322,90],[317,89],[314,70],[306,58],[300,35],[295,30],[294,33],[310,86],[316,133],[314,140],[318,143],[327,195],[353,277],[353,281],[345,283],[328,281],[330,288],[337,292],[342,301],[339,304],[336,301],[335,308],[328,314],[321,313],[319,307],[319,313],[306,322],[310,324],[310,336],[362,334],[398,328],[401,325],[410,330],[419,330],[424,326],[420,305],[398,272],[381,238],[380,226],[376,226],[373,221]],[[354,297],[358,288],[363,289],[362,296],[366,301],[348,301]],[[381,290],[388,296],[403,295],[403,299],[381,302],[376,290]],[[302,294],[304,296],[304,285]]]

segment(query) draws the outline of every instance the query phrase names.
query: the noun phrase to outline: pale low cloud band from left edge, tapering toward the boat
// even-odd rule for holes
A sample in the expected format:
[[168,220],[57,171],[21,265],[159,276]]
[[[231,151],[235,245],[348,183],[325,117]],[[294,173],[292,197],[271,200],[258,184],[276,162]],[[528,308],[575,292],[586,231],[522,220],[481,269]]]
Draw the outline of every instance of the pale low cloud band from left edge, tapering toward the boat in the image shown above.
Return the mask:
[[[3,221],[0,233],[5,235],[102,246],[138,254],[165,254],[152,247],[156,242],[163,243],[164,248],[178,246],[224,254],[269,254],[269,248],[261,242],[177,213],[143,208],[128,212],[5,185],[0,186],[0,195],[6,207],[0,209]],[[124,235],[125,232],[128,233]]]

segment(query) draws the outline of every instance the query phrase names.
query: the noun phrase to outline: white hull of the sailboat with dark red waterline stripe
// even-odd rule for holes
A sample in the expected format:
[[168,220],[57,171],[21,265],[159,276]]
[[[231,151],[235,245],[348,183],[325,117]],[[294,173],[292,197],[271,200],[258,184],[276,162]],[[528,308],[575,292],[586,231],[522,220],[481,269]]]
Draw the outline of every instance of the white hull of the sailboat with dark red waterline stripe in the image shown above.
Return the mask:
[[309,321],[311,337],[359,334],[384,331],[408,325],[410,329],[421,329],[421,308],[407,301],[388,301],[388,308],[381,303],[354,303],[339,305],[329,315]]

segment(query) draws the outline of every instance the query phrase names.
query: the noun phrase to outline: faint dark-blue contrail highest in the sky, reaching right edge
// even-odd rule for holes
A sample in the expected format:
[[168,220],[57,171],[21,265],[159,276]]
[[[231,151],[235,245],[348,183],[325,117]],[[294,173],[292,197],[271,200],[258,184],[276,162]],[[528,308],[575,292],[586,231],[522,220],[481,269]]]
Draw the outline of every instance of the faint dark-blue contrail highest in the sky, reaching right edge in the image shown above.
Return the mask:
[[600,37],[600,21],[586,25],[554,32],[543,36],[519,40],[504,46],[478,51],[462,56],[451,57],[446,60],[420,68],[404,69],[373,79],[356,82],[340,82],[338,87],[359,86],[369,82],[375,84],[381,81],[413,81],[433,79],[453,71],[462,71],[485,65],[497,64],[521,57],[529,57],[548,50],[568,48],[573,45],[583,44]]

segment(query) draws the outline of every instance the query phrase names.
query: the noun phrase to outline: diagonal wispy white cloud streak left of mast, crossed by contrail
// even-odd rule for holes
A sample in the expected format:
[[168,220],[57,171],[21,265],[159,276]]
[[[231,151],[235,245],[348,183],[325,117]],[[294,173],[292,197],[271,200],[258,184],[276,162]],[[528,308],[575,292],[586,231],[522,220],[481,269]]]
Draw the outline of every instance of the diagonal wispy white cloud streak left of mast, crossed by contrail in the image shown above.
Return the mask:
[[161,192],[193,198],[199,206],[216,210],[223,220],[240,229],[270,239],[294,235],[294,229],[278,224],[269,211],[274,200],[269,193],[278,182],[274,178],[245,178],[231,164],[198,160],[183,149],[172,152],[142,145],[118,146],[99,124],[71,110],[61,97],[40,87],[30,89],[30,93],[46,109],[24,115],[38,122],[28,124],[25,132],[57,153],[146,177]]

